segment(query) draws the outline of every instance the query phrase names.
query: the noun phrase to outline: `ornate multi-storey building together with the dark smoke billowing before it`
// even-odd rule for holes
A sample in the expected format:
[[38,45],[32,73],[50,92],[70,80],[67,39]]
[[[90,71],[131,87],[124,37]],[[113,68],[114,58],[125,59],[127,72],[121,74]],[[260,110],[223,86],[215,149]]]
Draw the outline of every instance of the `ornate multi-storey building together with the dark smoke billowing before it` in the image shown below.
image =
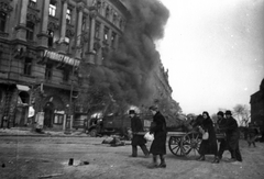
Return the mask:
[[30,107],[70,126],[87,88],[136,105],[170,98],[154,46],[167,18],[147,0],[0,0],[1,127],[31,124]]

